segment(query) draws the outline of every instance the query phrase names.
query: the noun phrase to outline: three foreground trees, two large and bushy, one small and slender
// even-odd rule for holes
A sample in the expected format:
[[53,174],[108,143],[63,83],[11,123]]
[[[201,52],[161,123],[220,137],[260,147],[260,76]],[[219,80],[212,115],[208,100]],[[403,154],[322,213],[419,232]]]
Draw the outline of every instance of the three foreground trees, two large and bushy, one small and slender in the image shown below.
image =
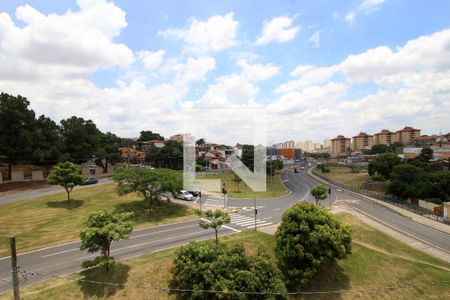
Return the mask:
[[351,228],[305,201],[283,214],[276,260],[262,248],[248,255],[242,244],[219,244],[217,230],[230,221],[228,213],[202,216],[200,226],[215,229],[216,243],[191,242],[176,252],[169,285],[180,299],[287,299],[287,288],[301,287],[351,253]]

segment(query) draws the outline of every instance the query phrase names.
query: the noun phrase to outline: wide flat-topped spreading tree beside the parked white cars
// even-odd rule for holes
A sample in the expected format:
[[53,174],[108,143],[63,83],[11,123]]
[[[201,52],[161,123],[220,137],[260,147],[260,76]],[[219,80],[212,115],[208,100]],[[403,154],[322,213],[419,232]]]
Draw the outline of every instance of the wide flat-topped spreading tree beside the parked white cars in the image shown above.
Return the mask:
[[174,195],[183,187],[182,174],[169,169],[121,168],[115,171],[113,180],[118,183],[120,196],[136,192],[149,208],[159,204],[164,193]]

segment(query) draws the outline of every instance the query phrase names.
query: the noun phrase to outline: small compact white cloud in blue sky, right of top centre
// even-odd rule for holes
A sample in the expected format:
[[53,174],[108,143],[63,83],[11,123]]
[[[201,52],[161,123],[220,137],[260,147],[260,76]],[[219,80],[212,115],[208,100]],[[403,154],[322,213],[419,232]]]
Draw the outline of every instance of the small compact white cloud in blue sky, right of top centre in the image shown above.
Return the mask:
[[256,44],[265,45],[274,41],[284,43],[292,40],[300,30],[298,26],[292,27],[293,21],[294,18],[285,16],[264,21],[261,36],[256,40]]

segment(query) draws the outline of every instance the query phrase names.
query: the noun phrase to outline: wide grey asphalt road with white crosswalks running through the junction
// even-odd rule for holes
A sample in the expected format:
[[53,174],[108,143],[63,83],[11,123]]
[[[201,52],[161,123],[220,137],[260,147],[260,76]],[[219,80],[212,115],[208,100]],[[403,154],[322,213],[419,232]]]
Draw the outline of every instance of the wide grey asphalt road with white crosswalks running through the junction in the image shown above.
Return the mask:
[[[258,207],[257,225],[277,224],[282,213],[299,200],[307,200],[314,203],[310,190],[317,181],[308,176],[304,171],[294,173],[286,171],[282,175],[283,183],[290,193],[283,197],[256,199]],[[437,231],[407,219],[384,206],[362,200],[354,196],[333,190],[330,200],[342,201],[350,207],[361,210],[401,231],[407,232],[419,240],[426,241],[445,251],[450,252],[450,235]],[[330,200],[322,205],[329,206]],[[207,198],[205,197],[205,200]],[[232,222],[220,231],[221,235],[249,230],[254,227],[253,199],[229,199],[229,205],[233,207],[247,208],[237,214],[233,214]],[[116,259],[125,259],[154,251],[182,245],[191,240],[204,240],[213,238],[211,230],[199,228],[198,221],[186,221],[176,224],[161,225],[157,227],[135,230],[131,239],[113,243],[112,255]],[[35,271],[53,275],[64,275],[81,269],[84,260],[94,257],[93,254],[79,250],[79,242],[49,247],[28,253],[19,254],[18,264],[22,270]],[[10,279],[10,258],[0,259],[0,278]],[[46,279],[39,276],[28,276],[20,279],[21,285],[27,285]],[[0,281],[0,292],[10,289],[10,284]]]

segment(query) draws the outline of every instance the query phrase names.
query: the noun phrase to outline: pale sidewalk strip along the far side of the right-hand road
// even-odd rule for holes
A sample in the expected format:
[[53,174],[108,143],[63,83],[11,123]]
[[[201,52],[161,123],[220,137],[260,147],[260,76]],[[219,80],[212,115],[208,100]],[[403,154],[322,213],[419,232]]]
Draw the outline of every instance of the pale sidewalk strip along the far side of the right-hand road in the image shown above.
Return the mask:
[[397,213],[405,216],[408,219],[411,219],[411,220],[413,220],[415,222],[421,223],[421,224],[426,225],[428,227],[431,227],[431,228],[434,228],[436,230],[439,230],[439,231],[445,232],[447,234],[450,234],[450,226],[449,225],[446,225],[444,223],[441,223],[441,222],[429,219],[427,217],[423,217],[421,215],[418,215],[416,213],[413,213],[413,212],[411,212],[409,210],[403,209],[403,208],[398,207],[396,205],[393,205],[393,204],[390,204],[390,203],[386,203],[384,201],[381,201],[381,200],[378,200],[378,199],[374,199],[374,198],[371,198],[371,197],[368,197],[368,196],[365,196],[365,195],[361,195],[361,194],[358,194],[358,193],[355,193],[355,192],[351,192],[351,191],[345,190],[345,189],[343,189],[341,187],[335,186],[334,184],[332,184],[332,183],[330,183],[330,182],[328,182],[328,181],[318,177],[317,175],[313,174],[311,172],[311,169],[308,169],[306,173],[310,177],[314,178],[315,180],[317,180],[319,182],[323,182],[323,183],[325,183],[327,185],[333,186],[333,187],[335,187],[337,189],[341,189],[343,192],[345,192],[347,194],[350,194],[350,195],[353,195],[353,196],[357,196],[357,197],[366,199],[368,201],[372,201],[372,202],[374,202],[374,203],[376,203],[378,205],[381,205],[381,206],[385,206],[385,207],[387,207],[387,208],[389,208],[391,210],[394,210]]

